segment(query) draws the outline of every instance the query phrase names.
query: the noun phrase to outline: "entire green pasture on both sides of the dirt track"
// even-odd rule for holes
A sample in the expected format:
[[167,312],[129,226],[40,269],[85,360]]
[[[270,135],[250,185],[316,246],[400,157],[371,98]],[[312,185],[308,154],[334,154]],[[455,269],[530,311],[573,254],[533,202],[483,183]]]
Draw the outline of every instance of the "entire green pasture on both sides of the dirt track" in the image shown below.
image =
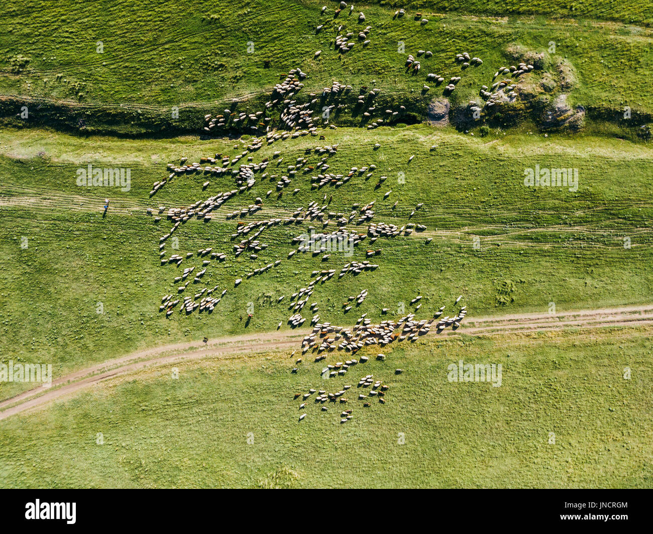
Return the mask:
[[[336,13],[339,4],[0,6],[0,364],[51,363],[59,379],[138,351],[154,357],[179,344],[183,352],[204,336],[269,340],[290,330],[291,295],[314,271],[366,259],[379,267],[316,284],[317,310],[302,310],[304,327],[313,314],[343,327],[361,314],[396,320],[415,311],[417,295],[417,319],[443,305],[452,314],[462,295],[473,325],[653,303],[650,2],[381,0],[351,14],[349,5]],[[394,16],[401,7],[406,16]],[[355,45],[338,52],[335,38],[347,33]],[[462,52],[483,61],[463,66],[454,59]],[[419,73],[406,67],[408,55]],[[495,72],[521,61],[532,70],[473,117],[482,87],[494,91],[512,76]],[[266,107],[294,68],[308,74],[301,91]],[[427,82],[429,73],[447,82]],[[460,82],[445,91],[454,76]],[[336,82],[351,88],[325,93]],[[268,143],[266,130],[296,120],[293,102],[317,129]],[[204,116],[219,113],[223,130],[202,130]],[[152,196],[168,164],[214,157],[215,166],[227,158],[229,172],[177,175]],[[255,184],[210,222],[179,226],[163,257],[183,263],[162,265],[167,209],[238,190],[240,166],[263,162],[266,175],[255,172]],[[89,165],[129,170],[129,185],[78,185]],[[525,185],[541,169],[575,171],[578,181]],[[350,170],[342,185],[311,185]],[[278,194],[285,176],[291,184]],[[259,198],[257,213],[229,216]],[[353,255],[289,258],[293,238],[336,230],[336,219],[371,202],[374,223],[426,228],[368,236]],[[239,224],[287,218],[310,203],[331,215],[266,228],[257,239],[268,248],[234,255]],[[208,247],[226,260],[180,288],[175,278],[187,267],[197,274]],[[214,286],[214,296],[227,293],[212,313],[159,309],[164,295],[199,301]],[[368,296],[347,312],[362,289]],[[322,364],[306,363],[312,353],[291,374],[292,349],[174,364],[178,379],[173,365],[132,372],[0,421],[0,486],[651,487],[653,332],[639,320],[494,336],[463,328],[392,344],[385,361],[365,348],[368,363],[326,384]],[[502,386],[448,381],[447,366],[461,359],[502,364]],[[358,402],[364,373],[389,385],[387,404]],[[340,424],[340,404],[321,411],[313,399],[298,421],[293,394],[347,383],[351,421]],[[33,387],[0,380],[0,402]]]

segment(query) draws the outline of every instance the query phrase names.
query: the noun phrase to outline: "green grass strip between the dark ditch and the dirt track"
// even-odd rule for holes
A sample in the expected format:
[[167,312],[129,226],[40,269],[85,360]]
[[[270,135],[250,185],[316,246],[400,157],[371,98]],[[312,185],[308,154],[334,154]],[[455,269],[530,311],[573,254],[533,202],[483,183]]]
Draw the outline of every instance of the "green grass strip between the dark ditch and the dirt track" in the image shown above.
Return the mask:
[[[381,308],[391,308],[390,317],[402,316],[400,304],[407,306],[418,292],[424,296],[420,312],[424,318],[460,293],[477,317],[546,312],[550,302],[562,311],[650,301],[653,280],[650,270],[641,269],[650,262],[652,250],[647,177],[653,160],[647,147],[594,137],[470,138],[449,130],[434,132],[428,126],[359,132],[336,130],[329,135],[330,143],[339,144],[338,153],[329,159],[332,169],[344,171],[364,162],[377,165],[375,176],[385,173],[389,178],[376,190],[375,179],[364,177],[328,190],[334,198],[329,209],[349,211],[355,202],[376,200],[375,220],[400,225],[422,201],[424,207],[411,220],[425,224],[427,230],[422,235],[379,239],[374,248],[382,249],[375,260],[380,267],[374,273],[319,285],[313,300],[323,320],[353,323],[357,316],[345,314],[342,303],[362,288],[370,295],[360,312],[375,320],[383,318]],[[381,148],[373,150],[376,142]],[[285,160],[293,161],[317,139],[284,143],[261,149],[257,160],[282,149]],[[0,186],[5,201],[0,209],[5,221],[0,227],[0,253],[6,258],[0,273],[5,288],[0,293],[2,358],[8,361],[18,351],[25,359],[51,361],[55,377],[148,346],[205,335],[272,331],[279,321],[287,328],[291,312],[287,300],[276,303],[279,296],[288,298],[306,286],[314,269],[340,270],[347,261],[363,260],[368,248],[362,243],[352,258],[334,252],[328,261],[310,254],[286,260],[293,250],[291,239],[308,231],[304,224],[266,230],[261,239],[270,248],[257,260],[249,260],[247,254],[234,258],[230,235],[236,220],[225,220],[224,214],[264,196],[270,187],[264,181],[221,207],[210,224],[191,221],[178,233],[179,254],[207,246],[228,254],[227,261],[210,267],[197,286],[228,289],[217,313],[175,313],[164,319],[158,311],[160,299],[178,286],[173,283],[176,270],[161,267],[157,251],[159,237],[170,224],[165,218],[153,222],[146,207],[186,205],[230,186],[227,178],[220,179],[202,194],[202,176],[180,177],[148,201],[151,183],[161,179],[165,162],[181,155],[192,159],[233,150],[233,141],[188,138],[170,144],[91,138],[89,143],[35,131],[27,136],[0,134],[0,144],[4,153],[0,171],[12,177],[11,183]],[[434,144],[438,149],[430,151]],[[416,157],[408,164],[413,154]],[[75,170],[88,162],[132,168],[129,192],[77,186]],[[578,191],[524,187],[523,169],[538,163],[579,168]],[[406,183],[398,183],[399,172],[405,173]],[[293,180],[298,194],[286,194],[279,201],[272,196],[264,203],[263,215],[243,220],[259,220],[270,211],[289,213],[311,200],[321,201],[325,192],[311,191],[310,175]],[[624,176],[629,177],[627,183]],[[384,201],[390,189],[393,193]],[[105,196],[113,204],[103,218]],[[35,204],[21,204],[30,198]],[[79,202],[74,198],[90,211],[76,211]],[[95,209],[89,207],[93,201]],[[394,201],[398,206],[393,210]],[[312,226],[319,230],[321,225]],[[426,236],[434,238],[430,245],[424,243]],[[21,248],[24,237],[27,248]],[[474,237],[479,248],[474,247]],[[631,239],[631,248],[624,248],[624,237]],[[281,260],[278,268],[233,288],[233,281],[246,271],[276,260]],[[189,259],[183,266],[189,265],[199,266],[201,261]],[[502,300],[504,282],[512,286],[507,303]],[[246,327],[238,318],[246,315],[249,303],[255,313]],[[0,396],[7,398],[24,387],[0,383]]]

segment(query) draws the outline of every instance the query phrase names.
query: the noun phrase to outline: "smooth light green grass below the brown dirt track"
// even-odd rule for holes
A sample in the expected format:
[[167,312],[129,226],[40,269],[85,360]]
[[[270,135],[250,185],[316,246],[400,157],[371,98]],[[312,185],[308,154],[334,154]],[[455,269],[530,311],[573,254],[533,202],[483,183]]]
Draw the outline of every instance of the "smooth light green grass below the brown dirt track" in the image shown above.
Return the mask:
[[[3,421],[0,483],[650,488],[651,334],[401,345],[387,361],[356,370],[390,388],[386,404],[369,408],[350,395],[347,424],[339,423],[343,405],[320,411],[312,400],[298,423],[295,391],[353,381],[332,386],[319,364],[291,378],[284,354],[180,364],[178,379],[170,366],[156,368]],[[501,387],[449,382],[447,366],[459,359],[501,363]],[[406,372],[396,376],[396,367]]]

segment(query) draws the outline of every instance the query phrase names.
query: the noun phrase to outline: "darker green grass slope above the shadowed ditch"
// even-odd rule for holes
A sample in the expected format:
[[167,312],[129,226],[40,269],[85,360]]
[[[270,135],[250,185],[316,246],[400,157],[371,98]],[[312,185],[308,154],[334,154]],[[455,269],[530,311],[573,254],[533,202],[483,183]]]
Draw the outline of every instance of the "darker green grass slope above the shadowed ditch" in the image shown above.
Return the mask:
[[[648,3],[554,2],[524,10],[516,3],[482,4],[420,3],[430,17],[426,25],[414,20],[415,9],[393,19],[390,6],[357,5],[353,14],[347,8],[334,18],[336,3],[327,3],[321,15],[323,4],[316,1],[246,1],[238,16],[224,1],[127,1],[74,10],[34,0],[6,5],[0,8],[7,22],[0,36],[6,51],[0,56],[0,115],[14,125],[82,132],[195,132],[204,113],[222,110],[231,98],[242,100],[243,109],[263,109],[279,74],[301,67],[309,74],[302,98],[333,81],[355,92],[378,87],[385,107],[404,103],[422,118],[426,102],[442,98],[445,85],[422,96],[426,73],[461,76],[449,98],[454,108],[464,108],[499,67],[541,53],[536,70],[520,78],[515,106],[487,120],[502,125],[513,114],[523,120],[526,106],[541,122],[543,109],[564,93],[592,119],[633,130],[652,121],[653,96],[643,90],[653,75]],[[489,16],[499,9],[515,15]],[[366,14],[364,23],[358,23],[358,10]],[[334,50],[338,27],[357,33],[365,25],[372,27],[369,46],[359,42],[344,55]],[[422,57],[421,72],[412,76],[404,62],[420,49],[433,56]],[[317,50],[322,54],[315,58]],[[464,51],[482,56],[483,65],[461,70],[454,55]],[[26,118],[19,116],[24,105]],[[172,117],[173,108],[179,117]],[[334,121],[357,125],[351,108],[349,102]]]

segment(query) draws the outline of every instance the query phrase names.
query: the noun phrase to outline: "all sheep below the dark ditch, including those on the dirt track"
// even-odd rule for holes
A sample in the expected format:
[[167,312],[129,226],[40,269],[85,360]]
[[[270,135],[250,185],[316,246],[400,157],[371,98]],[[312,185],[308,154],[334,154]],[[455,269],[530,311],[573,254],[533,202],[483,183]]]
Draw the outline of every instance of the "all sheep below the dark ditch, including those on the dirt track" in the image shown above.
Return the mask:
[[[278,138],[271,136],[268,138],[268,145],[274,143]],[[293,184],[293,181],[298,179],[298,175],[309,174],[311,190],[319,190],[325,186],[333,186],[339,188],[345,185],[350,179],[363,179],[367,180],[374,176],[376,166],[374,164],[355,166],[350,168],[344,173],[332,173],[327,170],[330,167],[328,158],[338,153],[338,145],[317,146],[313,149],[306,150],[304,156],[295,158],[289,162],[287,167],[282,168],[283,155],[281,151],[277,151],[272,155],[271,159],[263,158],[260,162],[253,161],[253,153],[261,148],[263,140],[255,139],[247,145],[246,151],[243,151],[238,156],[231,158],[229,156],[222,156],[216,154],[214,157],[200,158],[199,162],[189,163],[186,158],[182,158],[179,164],[168,165],[170,174],[168,178],[158,184],[155,184],[155,192],[160,189],[172,179],[182,179],[183,176],[196,175],[203,173],[209,177],[219,177],[221,179],[233,180],[233,189],[225,192],[217,192],[211,194],[203,200],[198,200],[191,205],[184,207],[170,207],[159,206],[158,212],[155,213],[154,209],[148,209],[148,215],[155,216],[156,220],[161,220],[161,216],[165,215],[171,224],[170,230],[159,239],[159,255],[161,257],[161,265],[174,265],[176,269],[180,268],[185,261],[195,261],[198,265],[191,265],[185,267],[182,271],[178,271],[172,282],[176,288],[176,293],[172,292],[163,295],[159,310],[165,312],[166,316],[170,316],[175,308],[180,310],[181,314],[191,314],[195,310],[199,312],[211,313],[215,306],[220,303],[222,297],[227,293],[228,288],[219,289],[218,286],[205,286],[203,283],[204,276],[209,269],[220,268],[221,263],[225,263],[228,258],[228,252],[222,250],[214,250],[212,246],[200,248],[197,252],[186,252],[179,254],[174,252],[167,256],[166,246],[174,233],[178,231],[189,220],[198,220],[203,222],[210,222],[215,212],[225,205],[227,201],[235,201],[238,195],[251,190],[253,186],[259,181],[269,181],[274,183],[274,187],[265,195],[266,199],[272,197],[273,192],[276,191],[276,199],[279,200],[283,192]],[[375,147],[376,148],[376,147]],[[316,164],[309,164],[310,158],[317,157]],[[411,156],[409,160],[412,160]],[[274,169],[274,171],[273,171]],[[278,174],[278,173],[279,174]],[[280,174],[283,172],[284,174]],[[313,174],[317,173],[317,174]],[[379,177],[377,187],[385,181],[385,176]],[[309,183],[308,177],[305,179]],[[158,186],[158,187],[157,187]],[[210,181],[206,181],[202,185],[202,190],[207,190],[210,187]],[[297,188],[293,191],[296,192]],[[387,200],[392,193],[388,190],[383,196],[383,201]],[[398,235],[411,235],[413,231],[420,232],[426,230],[426,226],[416,224],[414,222],[406,221],[402,226],[390,224],[386,222],[376,222],[375,219],[375,201],[369,203],[354,203],[351,205],[349,212],[330,211],[329,199],[327,195],[324,196],[323,202],[310,201],[306,208],[298,207],[293,211],[289,211],[285,216],[277,216],[271,218],[260,218],[250,220],[248,222],[242,220],[249,217],[255,217],[263,208],[263,198],[257,197],[253,204],[247,207],[236,209],[225,213],[225,220],[241,219],[236,222],[234,233],[231,234],[232,254],[234,258],[242,254],[249,255],[250,261],[259,259],[259,254],[268,249],[268,243],[263,241],[263,233],[266,229],[278,225],[300,225],[321,223],[323,231],[311,231],[310,235],[304,233],[296,235],[291,239],[290,252],[287,254],[287,260],[293,258],[297,253],[311,254],[316,260],[320,262],[326,261],[330,258],[330,252],[333,250],[333,245],[347,243],[352,247],[359,247],[365,241],[370,243],[370,248],[365,250],[364,260],[351,260],[347,261],[340,272],[336,269],[321,269],[315,270],[311,273],[311,280],[306,284],[306,287],[298,289],[295,293],[287,299],[287,306],[289,310],[289,318],[287,324],[291,328],[301,327],[306,322],[307,318],[302,315],[303,310],[308,306],[312,314],[310,325],[312,332],[302,340],[302,357],[309,351],[314,354],[315,361],[322,361],[327,358],[328,354],[333,351],[345,351],[355,355],[360,349],[378,345],[385,347],[393,342],[402,342],[404,340],[414,341],[419,337],[429,333],[432,329],[438,333],[447,327],[456,329],[460,321],[466,314],[466,307],[462,306],[453,316],[441,318],[444,308],[440,308],[431,319],[415,319],[415,312],[420,310],[421,295],[418,295],[411,301],[411,306],[414,306],[414,312],[407,314],[399,321],[384,320],[378,324],[372,324],[371,319],[367,318],[367,314],[362,314],[356,321],[352,328],[336,327],[328,322],[323,322],[319,316],[317,303],[311,303],[313,293],[318,284],[325,284],[332,278],[340,279],[343,276],[357,274],[363,272],[373,272],[379,269],[379,263],[373,263],[370,258],[381,255],[382,249],[377,246],[371,245],[377,239],[392,238]],[[398,201],[392,204],[391,209],[395,209]],[[422,209],[423,203],[418,203],[414,206],[408,215],[408,219],[415,215]],[[335,226],[336,229],[332,231],[325,231],[328,226]],[[364,228],[360,228],[363,226]],[[312,228],[312,227],[311,227]],[[426,243],[430,242],[430,238]],[[336,249],[340,250],[340,249]],[[352,251],[353,252],[353,251]],[[193,258],[193,260],[191,260]],[[234,279],[233,287],[238,288],[240,284],[251,276],[264,274],[270,269],[278,267],[282,260],[266,263],[262,267],[253,270],[246,270],[242,274],[237,275]],[[242,265],[242,264],[240,264]],[[190,284],[195,284],[197,289],[189,291]],[[366,297],[368,296],[367,289],[361,289],[357,295],[352,295],[343,303],[343,312],[346,314],[353,308],[361,306]],[[286,298],[286,295],[281,295],[277,299],[277,303],[281,303]],[[458,299],[460,300],[460,298]],[[456,301],[458,303],[458,301]],[[381,314],[387,314],[388,308],[383,308]],[[279,323],[278,329],[281,328],[282,323]],[[294,353],[293,353],[294,354]],[[377,359],[385,359],[384,355],[377,355]],[[351,358],[344,362],[336,362],[328,364],[323,369],[325,378],[336,378],[344,376],[347,371],[356,364],[364,364],[368,361],[368,357],[360,355],[358,359]],[[302,363],[300,357],[296,361],[296,367],[293,368],[293,373],[298,372],[299,365]],[[400,372],[400,370],[397,370]],[[388,386],[381,381],[372,382],[372,376],[367,375],[362,378],[358,387],[370,388],[366,389],[367,393],[359,393],[358,400],[364,402],[364,406],[370,406],[372,398],[378,398],[381,404],[385,403],[385,392]],[[348,387],[342,391],[327,393],[323,391],[317,394],[315,400],[321,405],[321,409],[327,410],[327,402],[347,402],[346,397],[343,397]],[[313,392],[315,393],[315,392]],[[309,393],[311,394],[311,392]],[[304,398],[304,401],[306,398]],[[306,406],[305,402],[302,403],[302,408]],[[344,412],[343,412],[344,413]],[[302,415],[301,420],[304,419],[306,414]],[[342,414],[341,414],[342,415]],[[342,415],[341,422],[345,423],[352,418],[351,410],[346,415]]]

